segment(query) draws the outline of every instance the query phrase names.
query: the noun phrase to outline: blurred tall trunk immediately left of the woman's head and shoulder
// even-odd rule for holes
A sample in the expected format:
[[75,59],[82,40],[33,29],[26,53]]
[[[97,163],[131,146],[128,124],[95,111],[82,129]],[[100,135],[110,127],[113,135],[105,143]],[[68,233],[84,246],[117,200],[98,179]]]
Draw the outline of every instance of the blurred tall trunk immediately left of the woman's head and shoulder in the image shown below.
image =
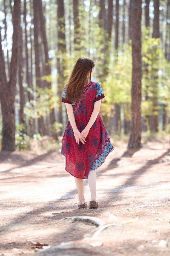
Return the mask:
[[63,82],[65,80],[64,69],[66,69],[66,37],[65,37],[65,18],[64,18],[64,1],[57,0],[57,17],[58,17],[58,54],[57,54],[57,71],[58,71],[58,123],[63,123],[62,114],[62,94],[63,94]]

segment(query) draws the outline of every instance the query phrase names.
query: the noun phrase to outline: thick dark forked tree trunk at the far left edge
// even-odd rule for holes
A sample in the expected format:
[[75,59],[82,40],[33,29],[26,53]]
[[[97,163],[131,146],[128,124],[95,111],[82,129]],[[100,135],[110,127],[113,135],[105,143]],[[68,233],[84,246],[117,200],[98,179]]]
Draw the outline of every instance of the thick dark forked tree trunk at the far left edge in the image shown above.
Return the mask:
[[2,111],[2,150],[15,151],[15,94],[20,30],[20,0],[14,0],[12,56],[10,80],[6,79],[4,54],[0,33],[0,101]]

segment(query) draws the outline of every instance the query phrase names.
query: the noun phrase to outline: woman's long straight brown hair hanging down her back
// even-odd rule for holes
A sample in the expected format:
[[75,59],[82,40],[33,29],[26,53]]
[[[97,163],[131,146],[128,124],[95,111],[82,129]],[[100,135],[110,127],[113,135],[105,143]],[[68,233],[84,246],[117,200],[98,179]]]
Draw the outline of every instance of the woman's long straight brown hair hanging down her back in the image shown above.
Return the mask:
[[83,87],[91,80],[91,71],[95,63],[88,57],[81,57],[77,60],[66,85],[65,98],[75,102],[80,100]]

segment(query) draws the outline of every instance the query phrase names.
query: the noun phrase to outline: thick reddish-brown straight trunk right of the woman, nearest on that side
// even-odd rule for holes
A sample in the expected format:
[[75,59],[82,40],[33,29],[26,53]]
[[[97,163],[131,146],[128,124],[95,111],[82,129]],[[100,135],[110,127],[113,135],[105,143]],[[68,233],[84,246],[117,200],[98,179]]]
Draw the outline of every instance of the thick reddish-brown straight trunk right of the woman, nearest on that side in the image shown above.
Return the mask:
[[132,89],[131,89],[131,126],[128,148],[141,147],[141,15],[142,0],[132,3]]

